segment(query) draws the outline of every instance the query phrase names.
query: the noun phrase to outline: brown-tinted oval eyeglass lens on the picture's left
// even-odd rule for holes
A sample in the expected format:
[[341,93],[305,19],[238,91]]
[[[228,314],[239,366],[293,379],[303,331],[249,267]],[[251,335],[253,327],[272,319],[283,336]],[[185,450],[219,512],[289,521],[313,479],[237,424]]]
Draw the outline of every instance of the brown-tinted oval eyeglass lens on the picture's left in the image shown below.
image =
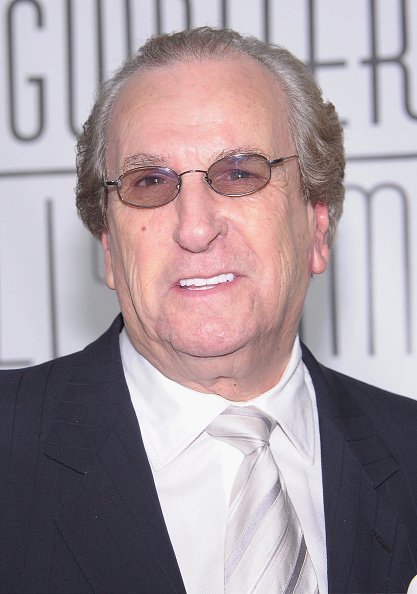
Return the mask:
[[175,198],[178,183],[178,175],[168,167],[139,167],[121,176],[120,198],[133,206],[155,208]]

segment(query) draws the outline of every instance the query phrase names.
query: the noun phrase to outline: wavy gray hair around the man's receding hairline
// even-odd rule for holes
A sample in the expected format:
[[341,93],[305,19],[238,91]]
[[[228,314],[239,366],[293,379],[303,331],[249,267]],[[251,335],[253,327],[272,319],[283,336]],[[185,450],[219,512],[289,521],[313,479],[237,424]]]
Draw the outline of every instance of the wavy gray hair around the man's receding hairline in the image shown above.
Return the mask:
[[307,66],[286,49],[229,29],[210,27],[151,37],[99,90],[77,145],[77,209],[93,235],[100,238],[107,229],[107,189],[103,184],[107,129],[113,105],[127,80],[140,70],[175,62],[222,60],[236,54],[266,66],[286,94],[304,198],[312,204],[328,205],[328,241],[332,241],[342,214],[345,165],[343,131],[334,106],[323,101]]

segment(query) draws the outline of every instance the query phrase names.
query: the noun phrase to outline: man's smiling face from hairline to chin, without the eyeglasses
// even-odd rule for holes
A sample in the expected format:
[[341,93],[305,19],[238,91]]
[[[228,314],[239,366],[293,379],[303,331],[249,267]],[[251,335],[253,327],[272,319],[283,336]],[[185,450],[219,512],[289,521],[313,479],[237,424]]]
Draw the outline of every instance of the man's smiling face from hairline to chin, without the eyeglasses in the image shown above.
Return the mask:
[[[108,178],[145,164],[207,170],[225,152],[296,152],[279,84],[246,57],[133,77],[108,138]],[[241,355],[253,365],[289,356],[309,277],[327,261],[327,210],[303,201],[297,159],[240,198],[216,194],[201,173],[155,209],[126,206],[113,191],[108,220],[107,284],[136,348],[162,371],[184,356],[236,365]]]

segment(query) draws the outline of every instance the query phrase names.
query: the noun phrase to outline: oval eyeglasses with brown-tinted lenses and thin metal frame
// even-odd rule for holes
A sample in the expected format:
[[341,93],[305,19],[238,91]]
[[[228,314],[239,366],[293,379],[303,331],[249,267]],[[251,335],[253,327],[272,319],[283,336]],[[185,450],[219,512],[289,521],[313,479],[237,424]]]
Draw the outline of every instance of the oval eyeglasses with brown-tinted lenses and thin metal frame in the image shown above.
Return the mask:
[[115,180],[105,180],[104,184],[115,186],[122,202],[138,208],[157,208],[174,200],[180,193],[182,176],[187,173],[203,173],[209,188],[222,196],[248,196],[269,183],[272,167],[297,157],[268,160],[263,155],[241,153],[219,159],[207,171],[190,169],[182,173],[149,165],[126,171]]

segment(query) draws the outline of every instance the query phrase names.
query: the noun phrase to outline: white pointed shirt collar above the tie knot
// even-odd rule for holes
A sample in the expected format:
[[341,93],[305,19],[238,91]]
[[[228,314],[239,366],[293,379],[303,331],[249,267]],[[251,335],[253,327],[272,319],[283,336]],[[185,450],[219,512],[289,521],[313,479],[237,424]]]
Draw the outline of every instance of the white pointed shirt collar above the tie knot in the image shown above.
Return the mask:
[[[126,330],[120,334],[120,350],[146,453],[157,471],[184,451],[231,402],[216,394],[186,388],[164,376],[135,350]],[[312,464],[314,421],[305,373],[308,372],[297,338],[278,384],[239,405],[257,406],[275,418],[300,454]]]

